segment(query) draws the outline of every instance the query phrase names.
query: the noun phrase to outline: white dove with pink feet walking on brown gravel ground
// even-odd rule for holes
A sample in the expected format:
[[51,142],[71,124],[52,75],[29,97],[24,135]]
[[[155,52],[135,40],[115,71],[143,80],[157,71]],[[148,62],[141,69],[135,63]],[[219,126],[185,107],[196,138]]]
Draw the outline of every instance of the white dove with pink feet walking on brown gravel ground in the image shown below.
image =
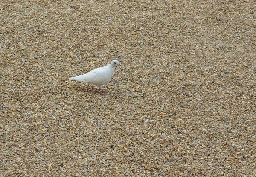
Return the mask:
[[107,93],[102,90],[102,86],[107,84],[115,71],[115,67],[120,66],[117,60],[111,61],[111,63],[104,67],[99,67],[91,70],[89,73],[79,75],[76,77],[68,78],[69,80],[76,80],[81,82],[87,82],[86,90],[88,92],[89,85],[98,85],[102,93]]

